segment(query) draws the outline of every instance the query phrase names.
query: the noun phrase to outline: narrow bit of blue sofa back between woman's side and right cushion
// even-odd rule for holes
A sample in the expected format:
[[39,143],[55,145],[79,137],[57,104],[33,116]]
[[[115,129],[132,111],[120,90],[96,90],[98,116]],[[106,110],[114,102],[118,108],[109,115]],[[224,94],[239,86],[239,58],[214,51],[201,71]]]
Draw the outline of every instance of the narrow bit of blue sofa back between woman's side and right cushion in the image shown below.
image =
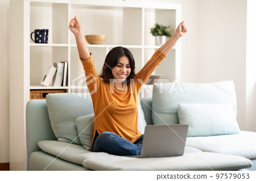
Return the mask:
[[141,99],[141,107],[144,112],[144,117],[146,120],[147,125],[153,124],[152,121],[152,98],[142,98]]

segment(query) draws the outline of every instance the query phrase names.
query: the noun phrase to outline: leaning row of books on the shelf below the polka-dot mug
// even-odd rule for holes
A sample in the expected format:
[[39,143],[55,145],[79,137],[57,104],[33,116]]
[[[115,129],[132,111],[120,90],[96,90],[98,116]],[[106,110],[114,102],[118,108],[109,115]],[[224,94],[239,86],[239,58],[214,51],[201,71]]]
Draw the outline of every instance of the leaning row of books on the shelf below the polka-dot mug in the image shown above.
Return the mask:
[[49,86],[68,86],[68,62],[54,63],[49,66],[46,75],[44,75],[40,85]]

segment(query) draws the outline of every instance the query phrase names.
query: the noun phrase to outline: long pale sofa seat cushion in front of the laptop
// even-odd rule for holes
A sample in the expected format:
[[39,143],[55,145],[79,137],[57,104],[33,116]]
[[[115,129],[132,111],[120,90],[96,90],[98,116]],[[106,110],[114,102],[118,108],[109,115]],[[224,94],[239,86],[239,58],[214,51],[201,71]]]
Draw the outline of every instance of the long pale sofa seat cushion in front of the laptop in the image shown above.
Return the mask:
[[238,170],[251,166],[249,159],[218,153],[186,153],[181,157],[130,158],[88,153],[82,165],[92,170]]

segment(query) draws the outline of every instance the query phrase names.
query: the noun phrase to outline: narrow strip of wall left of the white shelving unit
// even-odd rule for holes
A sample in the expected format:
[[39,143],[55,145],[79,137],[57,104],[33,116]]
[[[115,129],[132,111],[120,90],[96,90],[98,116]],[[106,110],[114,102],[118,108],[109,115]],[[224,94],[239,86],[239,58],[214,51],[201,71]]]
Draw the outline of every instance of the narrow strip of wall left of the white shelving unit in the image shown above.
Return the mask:
[[0,1],[0,163],[9,162],[9,1]]

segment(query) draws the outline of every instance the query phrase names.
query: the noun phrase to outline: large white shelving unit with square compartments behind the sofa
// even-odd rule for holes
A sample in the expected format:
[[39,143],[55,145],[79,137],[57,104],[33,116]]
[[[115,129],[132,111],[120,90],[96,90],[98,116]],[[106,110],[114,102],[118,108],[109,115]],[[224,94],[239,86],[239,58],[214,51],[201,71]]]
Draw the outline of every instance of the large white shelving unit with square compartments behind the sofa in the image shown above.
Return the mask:
[[[174,32],[181,20],[181,5],[126,1],[10,0],[10,169],[26,170],[26,104],[30,90],[65,89],[84,73],[69,20],[80,20],[84,35],[105,34],[102,45],[89,45],[100,73],[105,56],[114,47],[129,48],[136,71],[159,46],[150,27],[162,23]],[[49,29],[48,44],[35,44],[30,33]],[[180,42],[155,70],[161,78],[180,78]],[[68,61],[68,86],[44,87],[39,83],[53,62]],[[79,85],[82,86],[82,85]]]

